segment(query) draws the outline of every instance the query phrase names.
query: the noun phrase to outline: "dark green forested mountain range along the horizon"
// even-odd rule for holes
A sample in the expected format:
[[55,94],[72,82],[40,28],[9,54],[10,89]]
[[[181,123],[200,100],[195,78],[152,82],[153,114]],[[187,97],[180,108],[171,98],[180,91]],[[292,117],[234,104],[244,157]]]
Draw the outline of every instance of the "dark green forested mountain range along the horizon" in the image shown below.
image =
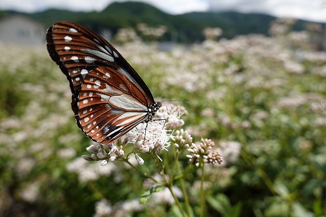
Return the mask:
[[[204,39],[202,30],[207,27],[220,27],[223,37],[250,33],[268,34],[269,24],[276,17],[263,14],[242,14],[238,12],[193,12],[171,15],[140,2],[112,3],[101,12],[72,12],[50,9],[39,13],[26,14],[15,11],[0,11],[0,19],[12,14],[22,14],[35,19],[46,26],[59,20],[70,20],[99,32],[110,29],[113,34],[119,28],[132,27],[138,23],[149,26],[166,25],[168,32],[162,40],[176,39],[180,42],[194,42]],[[298,20],[295,30],[303,30],[309,22]]]

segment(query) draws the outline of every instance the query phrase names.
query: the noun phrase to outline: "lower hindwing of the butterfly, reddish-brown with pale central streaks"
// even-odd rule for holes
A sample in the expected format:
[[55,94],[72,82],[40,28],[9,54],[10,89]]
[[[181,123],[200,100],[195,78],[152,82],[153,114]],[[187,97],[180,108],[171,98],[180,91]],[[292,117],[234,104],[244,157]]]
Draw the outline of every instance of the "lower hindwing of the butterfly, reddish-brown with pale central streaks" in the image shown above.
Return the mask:
[[78,96],[80,126],[103,145],[148,119],[146,94],[115,69],[97,67],[86,75]]

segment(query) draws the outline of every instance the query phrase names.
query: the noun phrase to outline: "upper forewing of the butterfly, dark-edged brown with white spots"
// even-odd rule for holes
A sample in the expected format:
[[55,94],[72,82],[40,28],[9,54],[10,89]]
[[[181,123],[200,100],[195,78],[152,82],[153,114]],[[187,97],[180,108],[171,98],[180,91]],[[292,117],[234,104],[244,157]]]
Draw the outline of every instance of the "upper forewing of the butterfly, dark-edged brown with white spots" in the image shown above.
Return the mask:
[[[145,99],[147,106],[154,103],[153,96],[142,78],[135,72],[120,53],[101,36],[82,25],[61,21],[50,26],[46,35],[50,57],[69,80],[72,92],[71,107],[76,122],[79,120],[78,96],[86,76],[95,68],[105,66],[116,70],[140,91],[133,95],[138,101]],[[96,135],[96,134],[95,134]]]

